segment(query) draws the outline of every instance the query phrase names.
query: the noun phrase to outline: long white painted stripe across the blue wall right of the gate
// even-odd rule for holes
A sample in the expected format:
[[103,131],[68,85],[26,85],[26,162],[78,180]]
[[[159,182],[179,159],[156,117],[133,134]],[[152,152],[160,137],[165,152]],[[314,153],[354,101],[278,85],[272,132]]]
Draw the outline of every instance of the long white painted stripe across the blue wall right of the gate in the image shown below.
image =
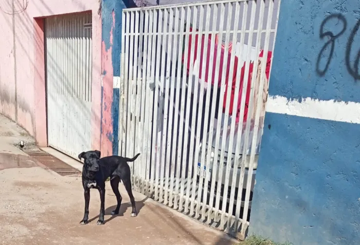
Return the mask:
[[266,112],[318,118],[360,124],[360,103],[302,98],[289,100],[283,96],[269,96]]

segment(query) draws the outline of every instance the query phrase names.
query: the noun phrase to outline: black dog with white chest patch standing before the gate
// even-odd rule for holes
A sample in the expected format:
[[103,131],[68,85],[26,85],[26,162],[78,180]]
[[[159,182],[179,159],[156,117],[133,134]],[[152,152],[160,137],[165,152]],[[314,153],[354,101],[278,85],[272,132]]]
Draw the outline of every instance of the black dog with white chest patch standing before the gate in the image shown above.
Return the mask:
[[89,214],[89,200],[90,189],[95,188],[100,192],[100,215],[97,224],[104,224],[104,212],[105,212],[105,180],[110,177],[111,187],[116,195],[117,206],[111,213],[112,215],[119,214],[121,205],[121,195],[119,192],[119,182],[122,180],[125,189],[128,191],[131,206],[133,208],[131,216],[137,215],[135,208],[135,199],[131,191],[131,173],[128,161],[134,161],[139,155],[134,158],[127,158],[121,156],[107,156],[100,158],[100,151],[87,151],[79,154],[79,159],[84,158],[84,167],[82,169],[82,185],[84,187],[85,197],[85,212],[84,218],[80,221],[80,224],[86,224],[88,222]]

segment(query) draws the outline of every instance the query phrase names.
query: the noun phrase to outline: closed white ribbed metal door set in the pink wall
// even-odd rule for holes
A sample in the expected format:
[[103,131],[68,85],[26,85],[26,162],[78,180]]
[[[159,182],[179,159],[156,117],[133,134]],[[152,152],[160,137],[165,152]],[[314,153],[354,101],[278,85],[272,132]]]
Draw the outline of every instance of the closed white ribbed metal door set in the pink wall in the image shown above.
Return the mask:
[[46,18],[48,145],[77,157],[91,149],[92,15]]

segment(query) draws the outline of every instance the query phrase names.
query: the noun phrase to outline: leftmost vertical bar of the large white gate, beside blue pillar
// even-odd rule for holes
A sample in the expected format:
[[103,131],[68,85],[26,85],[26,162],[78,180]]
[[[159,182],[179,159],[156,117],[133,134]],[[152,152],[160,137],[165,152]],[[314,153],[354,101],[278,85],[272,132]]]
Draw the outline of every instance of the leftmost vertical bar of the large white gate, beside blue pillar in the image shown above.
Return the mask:
[[[126,114],[124,112],[124,67],[125,67],[125,13],[122,12],[121,14],[121,54],[120,54],[120,93],[119,93],[119,146],[118,146],[118,152],[120,156],[125,155],[124,152],[124,140],[123,140],[123,133],[125,122],[124,118],[126,117]],[[120,141],[121,140],[121,141]],[[125,141],[126,142],[126,141]]]

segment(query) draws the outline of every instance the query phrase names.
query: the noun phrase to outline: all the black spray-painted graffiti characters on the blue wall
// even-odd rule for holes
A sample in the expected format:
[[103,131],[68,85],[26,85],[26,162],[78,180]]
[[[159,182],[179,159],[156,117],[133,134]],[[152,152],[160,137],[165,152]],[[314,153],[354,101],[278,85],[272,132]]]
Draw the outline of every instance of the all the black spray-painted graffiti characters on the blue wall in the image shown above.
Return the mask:
[[[334,34],[332,31],[324,31],[324,27],[325,25],[331,21],[332,19],[335,19],[338,21],[338,24],[341,24],[343,25],[343,29],[341,29],[337,34]],[[334,54],[334,50],[335,50],[335,40],[337,38],[339,38],[341,35],[344,34],[345,30],[347,28],[347,21],[346,21],[346,18],[344,17],[344,15],[342,14],[339,14],[339,13],[336,13],[336,14],[331,14],[329,16],[327,16],[321,23],[321,26],[320,26],[320,39],[323,39],[324,37],[328,37],[329,40],[328,42],[326,42],[323,47],[321,48],[320,52],[319,52],[319,55],[317,56],[317,61],[316,61],[316,73],[319,75],[319,76],[323,76],[326,74],[326,72],[328,71],[329,69],[329,65],[330,65],[330,62],[331,62],[331,59],[333,57],[333,54]],[[346,68],[349,72],[349,74],[355,79],[355,80],[358,80],[360,79],[360,74],[359,74],[359,61],[360,61],[360,50],[358,50],[357,54],[356,54],[356,58],[354,60],[354,64],[353,66],[351,66],[351,61],[350,61],[350,53],[351,53],[351,48],[352,48],[352,45],[354,43],[354,38],[355,38],[355,35],[358,31],[358,29],[360,28],[360,19],[356,22],[353,30],[351,31],[351,34],[348,38],[348,42],[347,42],[347,45],[346,45],[346,51],[345,51],[345,64],[346,64]],[[320,66],[320,60],[321,60],[321,56],[322,56],[322,53],[329,47],[330,45],[330,54],[329,54],[329,57],[328,57],[328,60],[327,60],[327,63],[325,65],[325,68],[324,69],[320,69],[319,66]]]

